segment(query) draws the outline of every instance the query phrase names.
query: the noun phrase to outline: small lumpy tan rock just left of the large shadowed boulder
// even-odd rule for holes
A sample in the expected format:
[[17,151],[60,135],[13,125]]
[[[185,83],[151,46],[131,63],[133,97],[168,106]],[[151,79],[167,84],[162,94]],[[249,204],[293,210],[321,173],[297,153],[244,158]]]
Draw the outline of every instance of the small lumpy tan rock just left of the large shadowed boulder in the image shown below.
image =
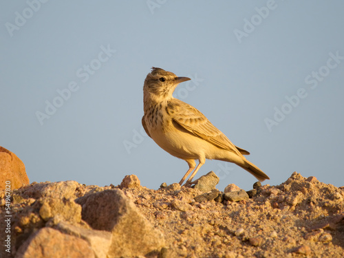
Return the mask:
[[45,221],[56,216],[67,222],[79,223],[81,221],[81,206],[72,200],[46,197],[41,200],[41,204],[39,215]]

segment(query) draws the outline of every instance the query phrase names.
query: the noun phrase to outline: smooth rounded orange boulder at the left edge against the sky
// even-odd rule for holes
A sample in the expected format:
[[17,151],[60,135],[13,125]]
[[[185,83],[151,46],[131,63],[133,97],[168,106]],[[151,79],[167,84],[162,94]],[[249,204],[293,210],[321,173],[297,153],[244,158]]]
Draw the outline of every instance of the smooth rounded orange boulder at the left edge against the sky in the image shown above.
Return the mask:
[[[11,151],[0,146],[0,190],[11,191],[30,184],[24,163]],[[6,184],[10,182],[10,184]],[[6,187],[7,186],[7,187]]]

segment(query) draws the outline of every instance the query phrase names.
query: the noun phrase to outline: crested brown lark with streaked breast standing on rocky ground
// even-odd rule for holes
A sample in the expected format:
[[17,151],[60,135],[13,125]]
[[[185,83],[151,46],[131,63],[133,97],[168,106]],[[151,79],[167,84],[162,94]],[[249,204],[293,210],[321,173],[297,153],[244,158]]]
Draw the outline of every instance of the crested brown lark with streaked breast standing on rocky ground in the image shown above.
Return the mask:
[[[143,86],[142,126],[159,147],[189,164],[180,185],[191,174],[184,186],[192,186],[197,171],[208,160],[233,162],[263,182],[270,179],[244,155],[250,153],[236,147],[195,107],[173,97],[179,83],[191,80],[173,72],[151,67]],[[198,160],[196,166],[195,160]]]

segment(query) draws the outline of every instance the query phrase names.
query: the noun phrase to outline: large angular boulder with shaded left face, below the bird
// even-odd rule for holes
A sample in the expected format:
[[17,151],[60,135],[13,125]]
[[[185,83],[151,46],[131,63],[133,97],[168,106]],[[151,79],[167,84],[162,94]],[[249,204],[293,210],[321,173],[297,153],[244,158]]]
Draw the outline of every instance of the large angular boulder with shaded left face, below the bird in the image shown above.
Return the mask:
[[118,189],[76,199],[82,217],[92,228],[111,232],[109,257],[146,255],[164,246],[164,236],[143,217],[135,204]]

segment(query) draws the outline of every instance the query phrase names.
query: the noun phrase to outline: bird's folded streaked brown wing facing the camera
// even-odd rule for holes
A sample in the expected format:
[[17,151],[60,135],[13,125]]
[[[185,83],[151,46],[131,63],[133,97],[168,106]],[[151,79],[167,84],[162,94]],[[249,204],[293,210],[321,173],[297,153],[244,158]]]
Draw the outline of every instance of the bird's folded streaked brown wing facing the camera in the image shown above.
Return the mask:
[[193,133],[215,146],[232,151],[234,153],[249,154],[244,149],[239,149],[228,140],[228,138],[219,131],[198,109],[182,102],[182,100],[173,99],[169,105],[173,121],[178,125]]

